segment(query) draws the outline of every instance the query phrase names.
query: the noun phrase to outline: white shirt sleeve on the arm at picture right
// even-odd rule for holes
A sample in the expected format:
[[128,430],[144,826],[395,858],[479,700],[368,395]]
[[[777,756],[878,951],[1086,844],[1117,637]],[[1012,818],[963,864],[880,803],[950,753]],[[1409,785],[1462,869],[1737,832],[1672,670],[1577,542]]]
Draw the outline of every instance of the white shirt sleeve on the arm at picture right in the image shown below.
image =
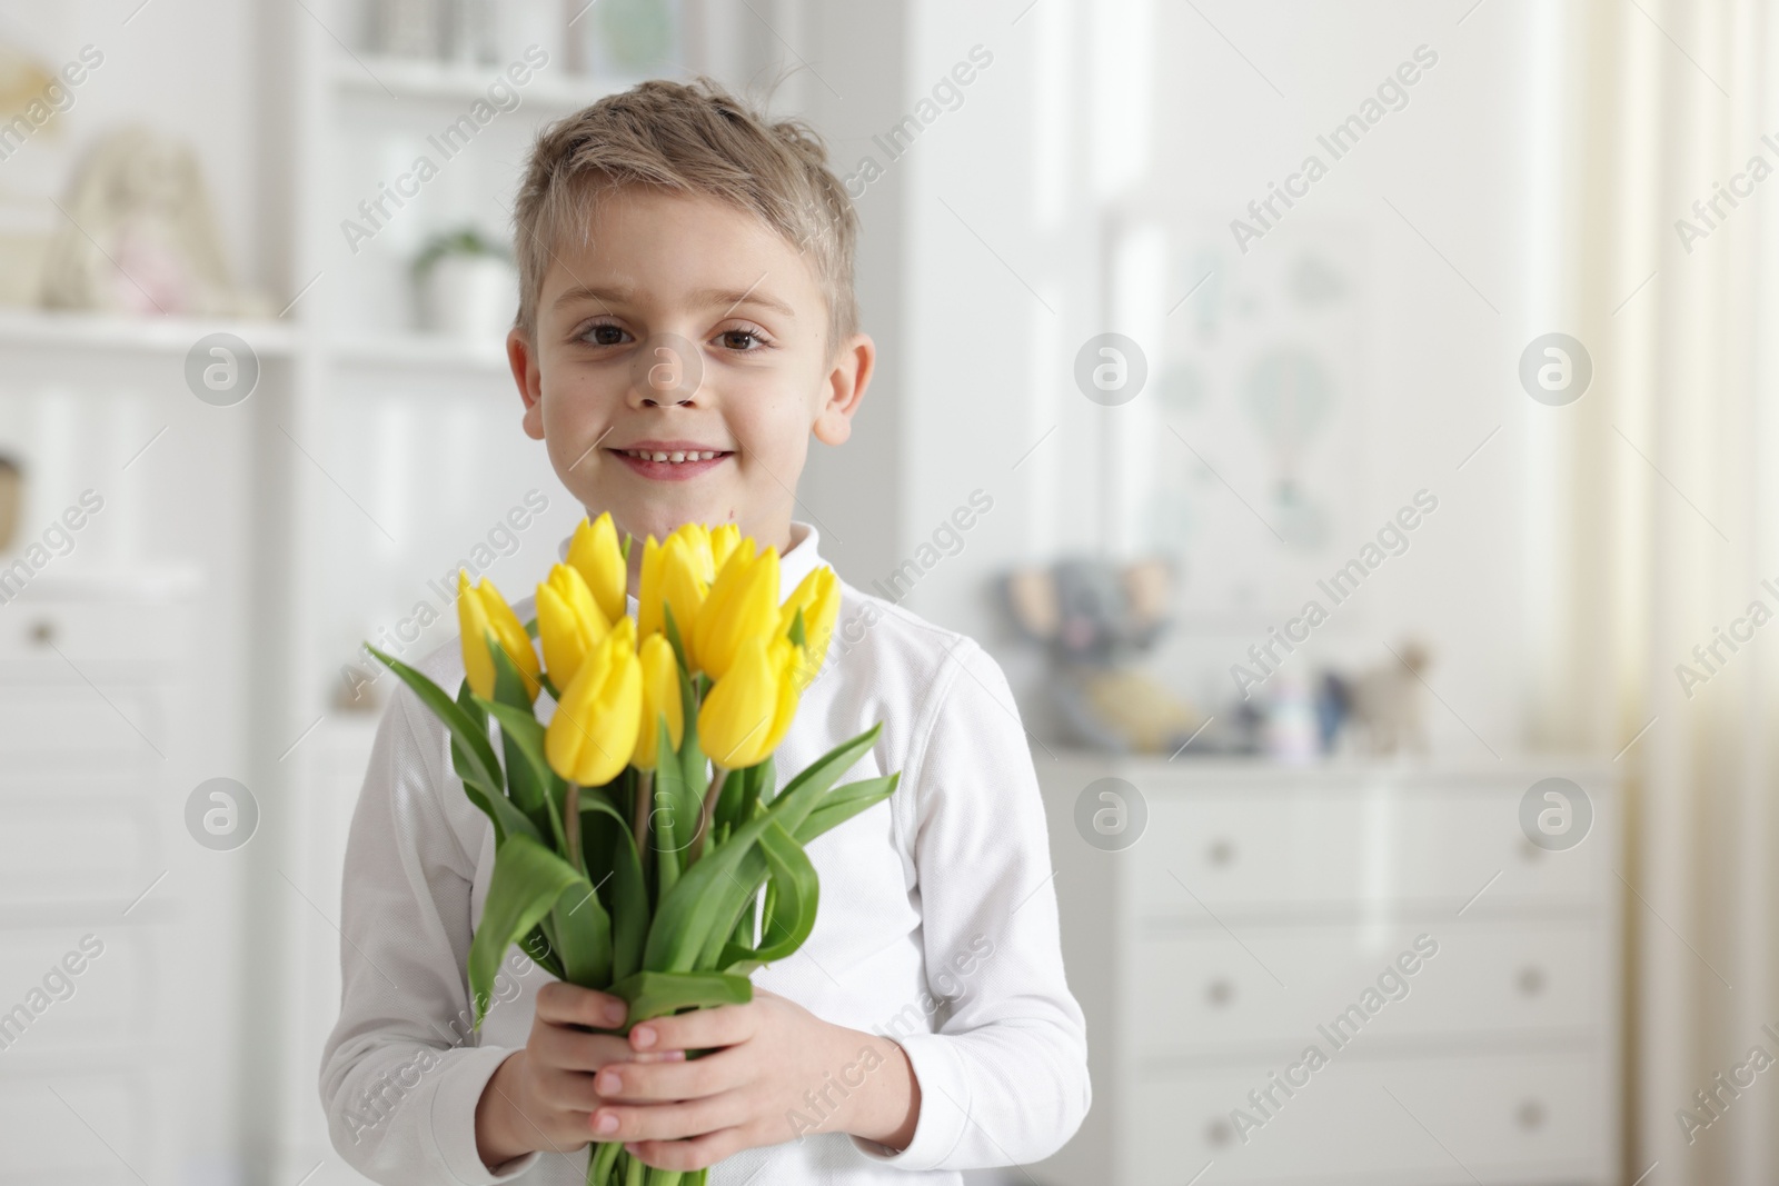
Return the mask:
[[[964,637],[914,770],[914,864],[932,1031],[888,1031],[920,1081],[907,1149],[873,1161],[966,1170],[1041,1161],[1092,1101],[1087,1026],[1062,971],[1044,800],[1000,665]],[[927,1006],[936,1008],[927,1008]],[[909,1015],[909,1010],[904,1010]],[[913,1030],[913,1026],[909,1026]]]

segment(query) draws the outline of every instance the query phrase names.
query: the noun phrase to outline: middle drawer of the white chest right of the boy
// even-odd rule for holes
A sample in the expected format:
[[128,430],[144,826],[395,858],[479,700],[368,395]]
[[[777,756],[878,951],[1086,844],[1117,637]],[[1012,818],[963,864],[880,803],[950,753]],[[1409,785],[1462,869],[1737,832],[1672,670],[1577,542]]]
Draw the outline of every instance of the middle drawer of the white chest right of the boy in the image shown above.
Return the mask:
[[[1430,958],[1413,950],[1421,934],[1436,944]],[[1295,1049],[1322,1040],[1316,1026],[1375,1056],[1418,1035],[1582,1031],[1612,1017],[1606,941],[1585,923],[1256,925],[1235,935],[1215,925],[1142,934],[1128,980],[1130,1017],[1142,1019],[1131,1058]],[[1404,951],[1413,974],[1397,964]],[[1356,1005],[1361,1015],[1348,1015]]]

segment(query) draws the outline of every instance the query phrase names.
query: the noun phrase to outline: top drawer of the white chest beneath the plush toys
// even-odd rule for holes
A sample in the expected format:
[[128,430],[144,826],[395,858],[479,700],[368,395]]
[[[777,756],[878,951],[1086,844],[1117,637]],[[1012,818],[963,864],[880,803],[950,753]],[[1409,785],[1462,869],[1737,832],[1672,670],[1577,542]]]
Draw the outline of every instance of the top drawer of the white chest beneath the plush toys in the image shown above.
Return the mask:
[[1601,797],[1596,834],[1567,852],[1544,852],[1519,830],[1521,793],[1381,784],[1153,795],[1147,829],[1130,850],[1137,909],[1146,918],[1203,918],[1199,902],[1213,910],[1322,912],[1423,902],[1455,912],[1496,873],[1477,903],[1484,914],[1516,900],[1598,896],[1610,877]]

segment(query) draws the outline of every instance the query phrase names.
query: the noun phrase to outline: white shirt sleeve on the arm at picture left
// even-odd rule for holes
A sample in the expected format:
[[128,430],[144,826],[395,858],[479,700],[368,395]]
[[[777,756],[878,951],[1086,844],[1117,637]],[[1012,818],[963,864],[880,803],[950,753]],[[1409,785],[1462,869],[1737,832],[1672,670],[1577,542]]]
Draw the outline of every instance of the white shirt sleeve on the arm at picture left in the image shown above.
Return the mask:
[[[489,1172],[475,1106],[511,1049],[480,1046],[464,966],[475,859],[445,813],[463,797],[445,734],[397,686],[372,743],[347,837],[340,907],[340,1021],[322,1051],[320,1099],[334,1149],[384,1186],[507,1182],[541,1154]],[[436,738],[429,747],[422,738]],[[523,960],[516,950],[512,960]],[[495,1008],[511,983],[503,969]],[[516,987],[516,985],[514,985]]]

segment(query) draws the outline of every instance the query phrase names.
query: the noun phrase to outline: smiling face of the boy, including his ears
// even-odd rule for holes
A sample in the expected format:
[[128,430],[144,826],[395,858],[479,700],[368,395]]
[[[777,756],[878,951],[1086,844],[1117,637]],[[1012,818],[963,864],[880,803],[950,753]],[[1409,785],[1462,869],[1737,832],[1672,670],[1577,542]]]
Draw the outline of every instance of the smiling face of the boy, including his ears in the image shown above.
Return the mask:
[[[735,521],[783,553],[809,434],[847,439],[872,368],[868,336],[825,338],[827,302],[783,236],[708,197],[628,187],[598,201],[585,242],[555,245],[535,329],[507,352],[525,432],[589,514],[639,541]],[[717,457],[626,455],[644,443]]]

